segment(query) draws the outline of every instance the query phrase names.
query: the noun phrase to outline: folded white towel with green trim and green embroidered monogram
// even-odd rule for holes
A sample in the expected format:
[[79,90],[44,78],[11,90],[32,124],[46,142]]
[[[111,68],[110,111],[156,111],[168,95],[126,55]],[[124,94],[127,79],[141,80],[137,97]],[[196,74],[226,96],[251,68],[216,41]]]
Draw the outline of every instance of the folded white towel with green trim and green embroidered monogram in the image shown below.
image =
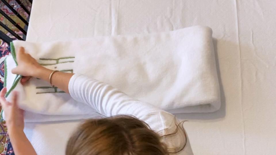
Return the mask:
[[[207,113],[220,108],[209,27],[43,43],[13,41],[13,57],[21,46],[49,69],[87,75],[169,112]],[[16,66],[13,57],[6,59],[8,90],[16,78],[11,74]],[[24,87],[19,82],[14,90],[20,92],[26,121],[79,119],[94,111],[36,78]]]

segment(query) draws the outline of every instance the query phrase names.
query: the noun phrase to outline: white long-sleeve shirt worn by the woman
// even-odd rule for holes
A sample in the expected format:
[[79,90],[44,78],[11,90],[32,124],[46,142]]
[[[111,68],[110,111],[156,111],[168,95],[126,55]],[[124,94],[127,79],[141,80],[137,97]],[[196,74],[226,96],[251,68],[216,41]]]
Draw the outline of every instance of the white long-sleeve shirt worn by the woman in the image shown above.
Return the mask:
[[[149,103],[135,100],[108,84],[89,79],[84,75],[74,74],[68,87],[74,100],[91,106],[101,115],[107,117],[133,115],[145,121],[161,136],[175,131],[175,123],[179,122],[174,115],[166,111]],[[168,148],[178,148],[181,143],[185,142],[185,136],[182,132],[177,132],[176,135],[165,139],[164,142]],[[178,154],[193,154],[188,137],[185,148]]]

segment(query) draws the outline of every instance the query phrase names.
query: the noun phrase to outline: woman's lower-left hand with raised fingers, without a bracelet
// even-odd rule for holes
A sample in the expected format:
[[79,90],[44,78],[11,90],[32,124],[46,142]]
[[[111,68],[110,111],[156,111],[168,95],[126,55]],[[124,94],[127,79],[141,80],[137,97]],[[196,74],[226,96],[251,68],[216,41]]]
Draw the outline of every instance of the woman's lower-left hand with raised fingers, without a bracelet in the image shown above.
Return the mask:
[[5,112],[5,120],[8,131],[20,131],[24,129],[24,111],[18,108],[17,105],[17,92],[12,93],[12,101],[8,102],[5,99],[7,88],[3,88],[0,92],[0,103]]

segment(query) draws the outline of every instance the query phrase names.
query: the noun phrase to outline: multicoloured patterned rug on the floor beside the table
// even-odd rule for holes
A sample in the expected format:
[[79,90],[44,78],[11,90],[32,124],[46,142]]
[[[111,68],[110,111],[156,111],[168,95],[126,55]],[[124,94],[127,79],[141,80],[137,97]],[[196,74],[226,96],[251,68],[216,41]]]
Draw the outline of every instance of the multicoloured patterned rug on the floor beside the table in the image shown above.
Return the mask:
[[[28,0],[20,0],[22,4],[28,9],[31,9],[31,4]],[[17,12],[22,15],[23,18],[27,19],[28,14],[16,3],[15,0],[8,0],[7,1]],[[3,2],[0,3],[0,9],[4,11],[11,19],[13,19],[16,23],[18,23],[22,28],[25,27],[25,24],[16,16],[14,15],[11,10],[3,4]],[[0,15],[0,22],[5,24],[7,27],[9,27],[11,30],[16,32],[20,37],[23,36],[22,32],[20,32],[15,26],[13,26],[5,17]],[[4,32],[8,36],[10,36],[13,40],[14,38],[9,32],[7,32],[4,28],[0,27],[0,31]],[[2,40],[0,40],[0,90],[3,88],[3,81],[4,81],[4,60],[5,58],[10,54],[9,45]],[[0,107],[1,110],[1,107]],[[12,149],[11,143],[9,142],[9,136],[7,133],[7,128],[5,125],[5,122],[0,123],[0,155],[12,155],[14,154],[14,151]]]

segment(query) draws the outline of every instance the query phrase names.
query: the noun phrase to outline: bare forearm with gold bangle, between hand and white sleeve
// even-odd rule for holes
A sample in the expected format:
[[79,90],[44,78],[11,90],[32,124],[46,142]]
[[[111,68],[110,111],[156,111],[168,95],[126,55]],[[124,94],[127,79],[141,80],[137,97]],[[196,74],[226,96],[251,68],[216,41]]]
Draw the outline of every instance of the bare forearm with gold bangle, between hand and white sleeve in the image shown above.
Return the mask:
[[[41,66],[37,69],[37,71],[35,71],[33,77],[49,82],[49,76],[52,73],[52,71],[53,70],[47,69],[47,68]],[[52,75],[52,80],[51,80],[52,85],[63,90],[66,93],[69,93],[68,84],[69,84],[70,78],[73,75],[74,75],[73,73],[64,73],[64,72],[60,72],[60,71],[55,72]]]

